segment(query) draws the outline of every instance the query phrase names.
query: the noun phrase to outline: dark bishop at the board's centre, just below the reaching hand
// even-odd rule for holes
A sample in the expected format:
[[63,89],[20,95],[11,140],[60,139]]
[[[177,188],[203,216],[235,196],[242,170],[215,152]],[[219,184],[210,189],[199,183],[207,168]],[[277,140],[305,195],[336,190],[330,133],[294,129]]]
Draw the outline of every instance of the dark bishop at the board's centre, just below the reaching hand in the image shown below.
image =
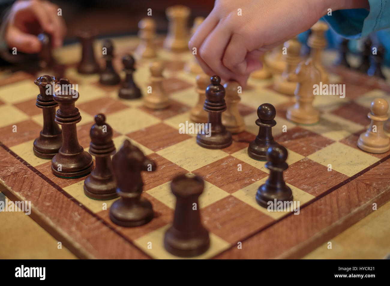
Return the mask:
[[222,112],[226,110],[225,89],[220,84],[218,75],[211,77],[211,84],[206,88],[204,110],[208,112],[205,130],[199,132],[196,142],[207,149],[222,149],[232,144],[232,133],[222,124]]

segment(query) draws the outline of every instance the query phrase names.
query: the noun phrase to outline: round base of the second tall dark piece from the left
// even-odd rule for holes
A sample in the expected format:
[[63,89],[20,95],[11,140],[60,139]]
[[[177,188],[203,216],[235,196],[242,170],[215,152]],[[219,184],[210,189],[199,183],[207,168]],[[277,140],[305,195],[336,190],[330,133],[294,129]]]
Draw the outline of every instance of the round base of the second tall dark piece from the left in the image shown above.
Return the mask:
[[[60,168],[59,168],[60,167]],[[51,160],[51,171],[57,177],[78,178],[88,175],[94,167],[92,156],[82,148],[73,154],[58,151]],[[59,170],[60,169],[60,170]]]

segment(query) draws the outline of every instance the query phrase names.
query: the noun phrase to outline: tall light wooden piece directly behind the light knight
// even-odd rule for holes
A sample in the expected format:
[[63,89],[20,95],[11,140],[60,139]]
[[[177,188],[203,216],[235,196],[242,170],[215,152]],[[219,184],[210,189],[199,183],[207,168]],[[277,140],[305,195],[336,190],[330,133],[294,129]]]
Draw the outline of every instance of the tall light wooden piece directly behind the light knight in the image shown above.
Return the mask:
[[328,24],[324,21],[318,21],[310,29],[312,33],[307,39],[307,45],[310,47],[310,58],[313,59],[314,65],[319,70],[323,84],[328,84],[328,72],[322,64],[322,51],[327,45],[325,32],[328,29]]

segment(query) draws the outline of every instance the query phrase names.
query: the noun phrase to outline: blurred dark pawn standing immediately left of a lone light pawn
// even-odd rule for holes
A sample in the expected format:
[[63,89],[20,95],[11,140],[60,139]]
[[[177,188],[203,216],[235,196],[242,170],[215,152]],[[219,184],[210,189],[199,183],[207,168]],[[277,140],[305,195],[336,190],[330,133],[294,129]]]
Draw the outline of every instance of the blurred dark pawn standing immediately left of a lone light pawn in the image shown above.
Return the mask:
[[141,97],[141,90],[138,88],[137,84],[135,84],[133,79],[133,72],[135,72],[134,58],[128,54],[122,58],[122,63],[124,65],[123,70],[126,73],[126,77],[119,89],[118,96],[124,99],[135,99]]

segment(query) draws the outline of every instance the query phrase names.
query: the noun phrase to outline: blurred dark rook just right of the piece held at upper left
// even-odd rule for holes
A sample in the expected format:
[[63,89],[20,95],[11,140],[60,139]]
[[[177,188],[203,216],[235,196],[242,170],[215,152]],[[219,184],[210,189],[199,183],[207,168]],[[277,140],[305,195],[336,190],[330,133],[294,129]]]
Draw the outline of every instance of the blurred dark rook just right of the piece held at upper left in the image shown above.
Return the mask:
[[78,31],[77,38],[82,45],[82,58],[77,65],[77,71],[80,74],[97,74],[100,70],[93,47],[95,35],[96,32],[93,30],[85,29]]

